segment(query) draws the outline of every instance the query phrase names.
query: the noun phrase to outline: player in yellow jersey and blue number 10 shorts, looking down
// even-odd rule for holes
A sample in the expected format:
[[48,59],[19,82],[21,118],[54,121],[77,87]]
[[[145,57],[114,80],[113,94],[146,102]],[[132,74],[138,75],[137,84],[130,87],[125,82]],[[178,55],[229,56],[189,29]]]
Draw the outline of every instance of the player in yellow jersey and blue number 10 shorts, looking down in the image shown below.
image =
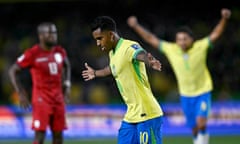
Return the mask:
[[97,46],[109,52],[110,63],[99,70],[85,63],[86,70],[82,76],[86,81],[110,74],[115,78],[127,105],[118,144],[161,144],[163,112],[153,96],[145,69],[147,65],[160,71],[160,62],[137,42],[120,37],[111,17],[97,17],[91,29]]

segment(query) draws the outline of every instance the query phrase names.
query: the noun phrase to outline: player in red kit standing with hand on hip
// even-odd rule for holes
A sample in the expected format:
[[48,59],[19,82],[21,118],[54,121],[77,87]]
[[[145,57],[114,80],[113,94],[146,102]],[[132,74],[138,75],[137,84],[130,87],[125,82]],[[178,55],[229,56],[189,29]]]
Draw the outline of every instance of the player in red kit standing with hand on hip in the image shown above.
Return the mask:
[[37,28],[39,44],[27,49],[9,70],[14,89],[19,94],[20,106],[28,108],[29,100],[17,72],[29,68],[32,89],[33,144],[43,144],[46,129],[52,131],[53,144],[63,143],[66,129],[65,98],[70,94],[70,62],[65,50],[57,45],[57,28],[53,23],[42,23]]

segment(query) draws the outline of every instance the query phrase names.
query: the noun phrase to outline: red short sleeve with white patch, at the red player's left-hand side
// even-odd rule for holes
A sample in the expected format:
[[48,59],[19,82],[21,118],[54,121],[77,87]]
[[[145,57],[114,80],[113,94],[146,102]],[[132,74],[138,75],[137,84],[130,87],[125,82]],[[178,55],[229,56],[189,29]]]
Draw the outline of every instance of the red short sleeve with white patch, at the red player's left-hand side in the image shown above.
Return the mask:
[[16,63],[21,68],[31,67],[34,62],[33,53],[31,50],[26,50],[21,56],[17,58]]

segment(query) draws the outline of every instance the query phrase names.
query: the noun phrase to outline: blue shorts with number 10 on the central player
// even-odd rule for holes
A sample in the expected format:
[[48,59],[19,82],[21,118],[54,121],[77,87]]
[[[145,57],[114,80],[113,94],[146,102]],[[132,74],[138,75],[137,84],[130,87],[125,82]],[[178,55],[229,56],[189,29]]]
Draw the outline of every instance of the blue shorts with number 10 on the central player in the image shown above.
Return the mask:
[[162,117],[139,123],[122,121],[118,144],[162,144],[162,123]]

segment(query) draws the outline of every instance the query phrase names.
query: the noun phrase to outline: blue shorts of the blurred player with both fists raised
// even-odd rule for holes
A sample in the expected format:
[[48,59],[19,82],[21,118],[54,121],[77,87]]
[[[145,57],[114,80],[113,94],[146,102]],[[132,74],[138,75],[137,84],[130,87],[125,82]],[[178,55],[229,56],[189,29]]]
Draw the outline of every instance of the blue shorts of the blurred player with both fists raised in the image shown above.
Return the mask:
[[207,118],[209,116],[211,92],[203,93],[195,97],[181,95],[180,101],[187,125],[190,128],[194,128],[197,125],[197,117]]

